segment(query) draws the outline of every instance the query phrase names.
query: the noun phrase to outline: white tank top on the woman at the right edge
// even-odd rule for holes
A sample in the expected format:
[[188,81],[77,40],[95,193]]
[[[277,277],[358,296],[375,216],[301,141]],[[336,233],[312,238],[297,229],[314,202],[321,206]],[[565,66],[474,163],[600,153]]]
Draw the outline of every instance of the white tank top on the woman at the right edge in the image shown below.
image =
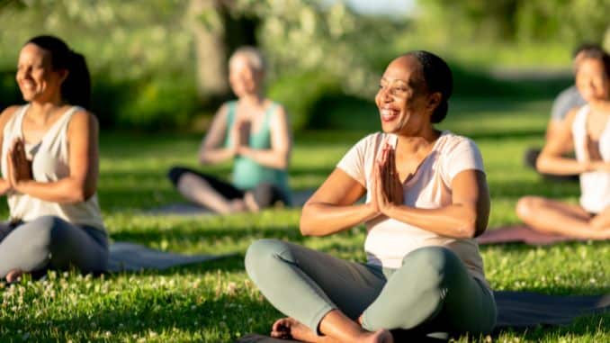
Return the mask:
[[[572,137],[574,139],[574,151],[579,161],[588,158],[585,148],[587,141],[587,118],[590,113],[589,105],[586,104],[572,123]],[[599,138],[599,153],[604,161],[610,161],[610,120],[606,122],[606,128]],[[610,172],[594,171],[580,174],[580,206],[592,213],[602,212],[610,205]]]

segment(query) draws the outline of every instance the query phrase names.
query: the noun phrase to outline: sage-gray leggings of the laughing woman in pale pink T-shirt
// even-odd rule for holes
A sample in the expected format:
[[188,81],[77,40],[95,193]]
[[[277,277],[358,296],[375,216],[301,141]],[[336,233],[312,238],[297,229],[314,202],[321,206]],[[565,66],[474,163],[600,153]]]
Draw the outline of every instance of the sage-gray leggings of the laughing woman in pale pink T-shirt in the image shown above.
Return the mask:
[[485,334],[496,323],[493,295],[447,248],[419,248],[389,269],[261,239],[247,249],[246,270],[277,310],[314,332],[335,309],[354,320],[363,314],[370,331]]

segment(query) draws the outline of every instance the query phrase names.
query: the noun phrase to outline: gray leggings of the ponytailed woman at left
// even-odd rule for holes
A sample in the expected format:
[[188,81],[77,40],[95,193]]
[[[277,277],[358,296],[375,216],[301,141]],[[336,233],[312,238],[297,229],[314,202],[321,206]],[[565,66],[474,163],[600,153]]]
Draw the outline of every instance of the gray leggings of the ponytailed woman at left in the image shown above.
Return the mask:
[[105,232],[55,216],[0,224],[0,277],[13,269],[38,272],[76,266],[84,273],[103,272],[108,264]]

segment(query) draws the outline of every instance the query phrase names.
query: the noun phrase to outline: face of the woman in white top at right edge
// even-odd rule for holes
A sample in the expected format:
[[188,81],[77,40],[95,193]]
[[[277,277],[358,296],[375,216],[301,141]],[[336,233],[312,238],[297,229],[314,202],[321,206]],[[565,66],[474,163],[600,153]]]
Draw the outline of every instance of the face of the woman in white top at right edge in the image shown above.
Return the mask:
[[610,96],[610,80],[601,59],[582,59],[576,71],[576,86],[587,101],[605,100]]

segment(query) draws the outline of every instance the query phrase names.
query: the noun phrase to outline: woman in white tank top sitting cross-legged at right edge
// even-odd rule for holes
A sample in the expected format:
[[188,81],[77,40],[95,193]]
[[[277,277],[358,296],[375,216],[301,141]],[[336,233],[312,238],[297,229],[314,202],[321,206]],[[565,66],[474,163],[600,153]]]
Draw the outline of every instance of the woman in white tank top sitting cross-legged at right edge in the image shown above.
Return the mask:
[[[610,56],[599,48],[582,53],[576,64],[576,86],[588,104],[568,114],[561,133],[547,142],[536,163],[542,173],[579,174],[580,202],[525,196],[516,212],[535,231],[573,239],[610,239]],[[562,157],[567,143],[576,158]]]

